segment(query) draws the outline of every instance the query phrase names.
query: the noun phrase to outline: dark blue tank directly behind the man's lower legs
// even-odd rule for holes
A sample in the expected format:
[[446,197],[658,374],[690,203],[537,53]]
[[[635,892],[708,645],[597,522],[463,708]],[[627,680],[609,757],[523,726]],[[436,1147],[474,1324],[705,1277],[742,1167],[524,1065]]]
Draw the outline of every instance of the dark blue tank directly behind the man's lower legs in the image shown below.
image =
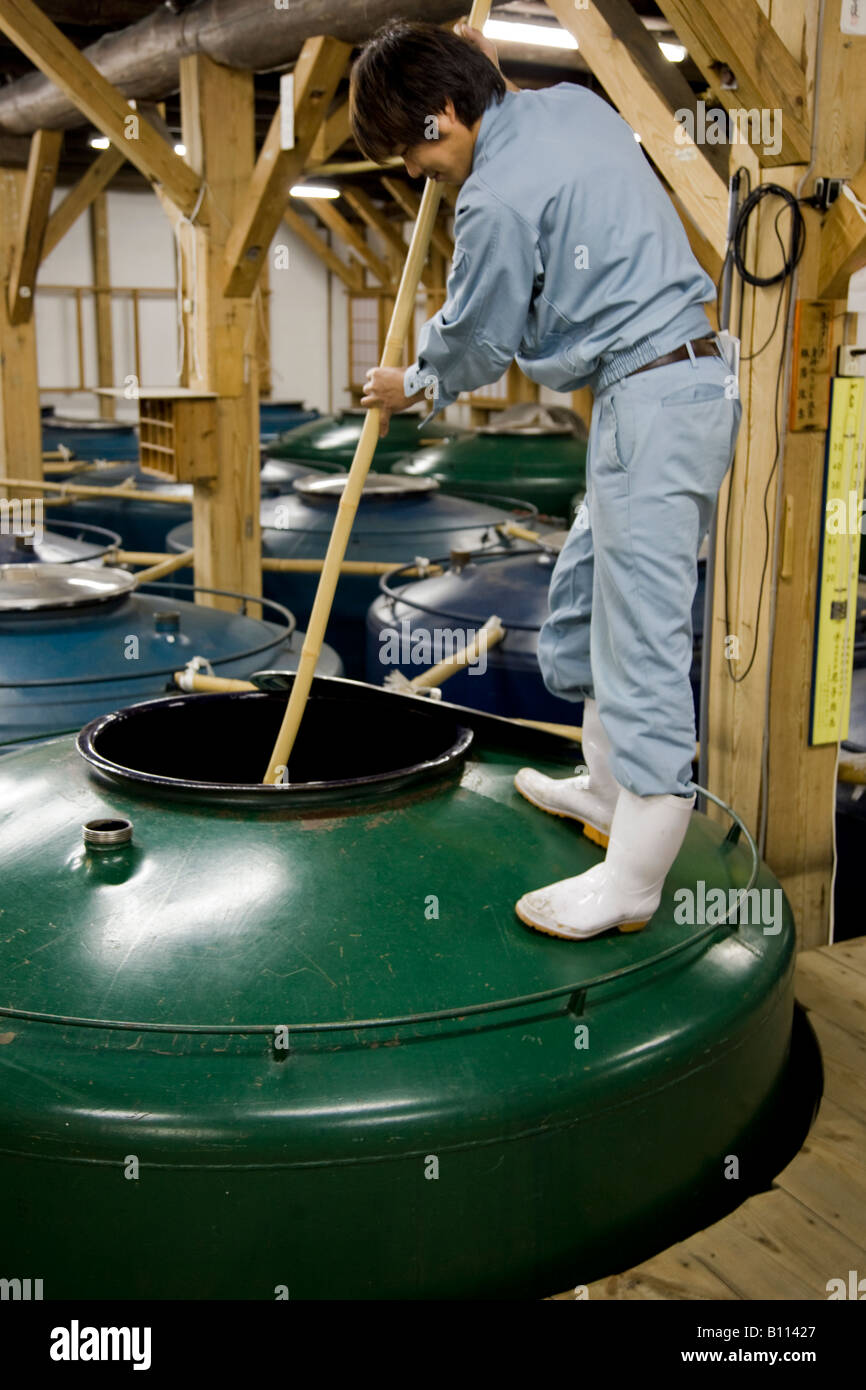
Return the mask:
[[[474,671],[449,677],[445,698],[470,709],[512,719],[539,719],[580,724],[582,705],[552,695],[538,666],[538,634],[548,617],[548,589],[556,562],[556,534],[544,549],[523,553],[481,553],[452,557],[445,574],[406,581],[402,573],[384,575],[381,594],[367,614],[366,676],[382,685],[389,671],[407,680],[460,651],[493,614],[506,637],[487,652]],[[699,631],[703,623],[703,567],[692,609],[696,648],[692,684],[701,676]]]

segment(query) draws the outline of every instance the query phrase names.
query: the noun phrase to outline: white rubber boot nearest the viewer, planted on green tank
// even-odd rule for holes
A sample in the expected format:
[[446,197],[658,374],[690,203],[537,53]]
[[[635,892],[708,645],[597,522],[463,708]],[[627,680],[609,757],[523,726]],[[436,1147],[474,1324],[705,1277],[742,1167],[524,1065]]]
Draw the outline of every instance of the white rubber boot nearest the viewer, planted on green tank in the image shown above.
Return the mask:
[[620,791],[607,855],[574,878],[527,892],[516,906],[527,927],[584,941],[602,931],[639,931],[662,899],[685,840],[695,798],[635,796]]

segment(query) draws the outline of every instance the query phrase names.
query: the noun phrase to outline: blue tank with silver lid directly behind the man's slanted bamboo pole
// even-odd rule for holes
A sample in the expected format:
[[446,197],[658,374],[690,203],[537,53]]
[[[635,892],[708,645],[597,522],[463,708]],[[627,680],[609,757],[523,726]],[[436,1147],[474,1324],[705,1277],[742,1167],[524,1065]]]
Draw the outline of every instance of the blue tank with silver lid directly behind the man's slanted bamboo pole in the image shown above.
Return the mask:
[[[261,503],[261,550],[268,559],[321,560],[328,549],[336,507],[346,484],[343,474],[327,477],[307,474],[291,493]],[[514,520],[506,507],[452,498],[439,492],[431,478],[399,478],[393,474],[367,475],[361,502],[346,550],[348,560],[379,560],[396,564],[416,557],[436,559],[449,550],[478,550],[502,546],[496,525]],[[535,514],[525,503],[513,503],[525,523]],[[192,523],[168,537],[170,550],[192,546]],[[517,542],[517,546],[521,546]],[[318,574],[263,575],[264,592],[288,603],[306,624],[310,617]],[[349,676],[364,678],[364,621],[367,609],[378,594],[378,575],[343,574],[336,587],[327,638],[342,656]]]

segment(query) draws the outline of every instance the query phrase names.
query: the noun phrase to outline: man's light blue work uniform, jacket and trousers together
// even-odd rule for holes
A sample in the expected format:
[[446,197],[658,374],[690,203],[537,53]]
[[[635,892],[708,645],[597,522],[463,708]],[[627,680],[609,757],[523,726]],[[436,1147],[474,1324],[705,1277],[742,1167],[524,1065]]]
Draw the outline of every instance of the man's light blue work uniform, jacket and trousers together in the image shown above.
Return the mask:
[[598,701],[620,785],[688,795],[696,556],[741,406],[721,353],[631,375],[708,336],[716,291],[606,101],[562,83],[487,107],[446,288],[405,374],[432,414],[514,357],[541,385],[594,391],[587,500],[553,570],[538,659],[553,694]]

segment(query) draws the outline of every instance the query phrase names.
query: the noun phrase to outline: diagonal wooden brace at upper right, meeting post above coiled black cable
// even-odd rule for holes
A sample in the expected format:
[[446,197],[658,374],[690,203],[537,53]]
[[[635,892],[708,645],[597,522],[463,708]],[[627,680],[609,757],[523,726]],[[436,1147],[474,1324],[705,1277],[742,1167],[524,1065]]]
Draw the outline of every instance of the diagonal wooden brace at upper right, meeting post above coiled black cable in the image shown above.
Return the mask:
[[[808,164],[812,114],[806,74],[788,51],[758,0],[659,0],[659,7],[688,49],[724,108],[769,113],[780,131],[780,147],[749,140],[762,164]],[[730,68],[737,86],[721,85]]]

